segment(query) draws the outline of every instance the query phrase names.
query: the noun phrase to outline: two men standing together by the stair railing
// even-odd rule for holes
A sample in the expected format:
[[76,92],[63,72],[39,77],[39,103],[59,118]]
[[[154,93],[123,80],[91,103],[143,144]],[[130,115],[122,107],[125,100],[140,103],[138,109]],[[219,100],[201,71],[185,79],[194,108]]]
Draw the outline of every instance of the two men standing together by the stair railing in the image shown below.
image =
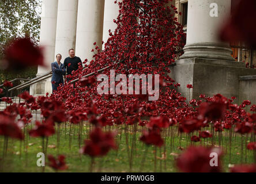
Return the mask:
[[[52,93],[57,90],[59,85],[63,85],[63,75],[66,80],[66,71],[67,75],[71,75],[72,71],[78,69],[78,63],[82,64],[80,57],[75,56],[74,49],[69,49],[69,57],[66,57],[64,60],[64,64],[61,63],[61,54],[57,54],[56,62],[51,63],[51,71],[52,71]],[[70,79],[67,79],[67,82]]]

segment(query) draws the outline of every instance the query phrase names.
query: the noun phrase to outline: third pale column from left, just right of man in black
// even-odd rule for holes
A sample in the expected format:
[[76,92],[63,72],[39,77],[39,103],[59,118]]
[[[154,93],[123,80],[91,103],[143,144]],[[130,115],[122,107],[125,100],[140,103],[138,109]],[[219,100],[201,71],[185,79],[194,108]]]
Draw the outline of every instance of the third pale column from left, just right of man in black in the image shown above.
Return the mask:
[[104,18],[104,0],[79,0],[77,15],[77,37],[76,37],[76,56],[82,62],[92,60],[95,55],[91,52],[95,48],[93,43],[97,43],[101,49]]

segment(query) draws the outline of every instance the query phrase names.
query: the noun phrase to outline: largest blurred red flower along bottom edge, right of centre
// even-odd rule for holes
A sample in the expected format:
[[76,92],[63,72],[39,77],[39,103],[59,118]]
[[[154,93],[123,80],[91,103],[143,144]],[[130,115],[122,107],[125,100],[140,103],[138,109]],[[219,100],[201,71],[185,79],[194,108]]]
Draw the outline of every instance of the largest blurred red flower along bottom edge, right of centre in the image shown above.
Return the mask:
[[[210,166],[210,154],[215,152],[218,155],[217,166]],[[222,152],[219,148],[189,147],[176,161],[176,166],[185,173],[219,173],[221,172]]]

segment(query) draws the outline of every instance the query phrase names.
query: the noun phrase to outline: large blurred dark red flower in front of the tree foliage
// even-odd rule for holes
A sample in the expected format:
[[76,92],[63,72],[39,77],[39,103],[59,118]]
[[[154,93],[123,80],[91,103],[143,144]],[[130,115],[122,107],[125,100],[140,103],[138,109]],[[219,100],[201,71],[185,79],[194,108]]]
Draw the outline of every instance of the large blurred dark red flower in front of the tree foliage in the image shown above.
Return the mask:
[[28,66],[43,66],[43,52],[41,47],[36,47],[28,38],[19,38],[5,49],[5,60],[8,70],[20,70]]

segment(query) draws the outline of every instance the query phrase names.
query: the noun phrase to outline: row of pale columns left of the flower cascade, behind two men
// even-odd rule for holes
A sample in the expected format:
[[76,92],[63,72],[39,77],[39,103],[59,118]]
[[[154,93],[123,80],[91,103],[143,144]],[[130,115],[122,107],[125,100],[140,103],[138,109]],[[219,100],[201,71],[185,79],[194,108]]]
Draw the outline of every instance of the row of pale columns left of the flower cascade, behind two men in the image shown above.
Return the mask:
[[[40,45],[44,46],[45,63],[48,67],[38,67],[37,76],[51,71],[55,55],[61,53],[63,63],[70,48],[82,61],[90,62],[95,54],[91,52],[93,43],[102,48],[109,33],[114,32],[113,19],[119,14],[118,3],[114,0],[43,0],[40,29]],[[51,94],[51,79],[31,86],[32,95]]]

